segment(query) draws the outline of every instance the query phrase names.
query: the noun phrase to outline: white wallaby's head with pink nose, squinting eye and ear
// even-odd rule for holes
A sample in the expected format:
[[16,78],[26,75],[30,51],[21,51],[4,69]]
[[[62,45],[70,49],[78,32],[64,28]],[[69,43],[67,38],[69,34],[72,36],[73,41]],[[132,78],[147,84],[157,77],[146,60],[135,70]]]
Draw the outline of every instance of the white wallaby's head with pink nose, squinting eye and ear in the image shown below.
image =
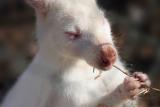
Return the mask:
[[109,21],[95,0],[27,0],[37,16],[40,51],[108,69],[117,59]]

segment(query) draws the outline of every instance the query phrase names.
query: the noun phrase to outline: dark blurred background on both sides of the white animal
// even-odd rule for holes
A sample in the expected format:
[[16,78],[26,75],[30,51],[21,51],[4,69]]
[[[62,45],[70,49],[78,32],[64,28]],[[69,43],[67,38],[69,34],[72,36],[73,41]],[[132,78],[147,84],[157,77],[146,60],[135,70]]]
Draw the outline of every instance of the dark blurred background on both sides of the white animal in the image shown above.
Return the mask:
[[[112,23],[115,43],[131,71],[149,74],[160,89],[160,0],[98,0]],[[0,100],[37,52],[34,11],[24,0],[0,1]],[[160,92],[140,107],[160,107]]]

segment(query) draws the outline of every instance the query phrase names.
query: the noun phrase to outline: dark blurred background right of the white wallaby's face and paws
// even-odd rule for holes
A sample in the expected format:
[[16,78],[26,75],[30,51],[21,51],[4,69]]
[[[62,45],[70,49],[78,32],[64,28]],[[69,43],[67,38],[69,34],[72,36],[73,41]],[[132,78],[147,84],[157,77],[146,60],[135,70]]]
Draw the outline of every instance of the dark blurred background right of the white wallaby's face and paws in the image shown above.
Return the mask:
[[[160,1],[99,0],[107,9],[120,55],[132,70],[150,75],[160,89]],[[160,107],[160,93],[143,96],[140,107]]]

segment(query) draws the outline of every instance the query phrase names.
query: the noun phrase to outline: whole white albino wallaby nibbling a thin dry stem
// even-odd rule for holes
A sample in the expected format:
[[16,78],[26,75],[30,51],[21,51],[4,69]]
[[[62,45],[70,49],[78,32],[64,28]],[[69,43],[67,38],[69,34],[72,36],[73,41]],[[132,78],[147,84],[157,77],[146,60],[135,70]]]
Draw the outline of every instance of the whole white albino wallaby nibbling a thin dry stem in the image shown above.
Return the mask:
[[125,69],[95,0],[26,1],[36,11],[39,51],[1,107],[131,107],[150,85],[146,74],[112,67]]

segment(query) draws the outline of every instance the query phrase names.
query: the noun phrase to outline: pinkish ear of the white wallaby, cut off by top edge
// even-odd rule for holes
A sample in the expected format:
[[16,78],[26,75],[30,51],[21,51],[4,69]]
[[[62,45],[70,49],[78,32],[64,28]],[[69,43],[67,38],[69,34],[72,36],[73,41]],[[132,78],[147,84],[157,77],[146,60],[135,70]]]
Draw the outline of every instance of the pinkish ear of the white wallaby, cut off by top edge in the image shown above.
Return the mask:
[[45,0],[26,0],[26,2],[31,5],[36,12],[45,15],[47,13],[47,6]]

